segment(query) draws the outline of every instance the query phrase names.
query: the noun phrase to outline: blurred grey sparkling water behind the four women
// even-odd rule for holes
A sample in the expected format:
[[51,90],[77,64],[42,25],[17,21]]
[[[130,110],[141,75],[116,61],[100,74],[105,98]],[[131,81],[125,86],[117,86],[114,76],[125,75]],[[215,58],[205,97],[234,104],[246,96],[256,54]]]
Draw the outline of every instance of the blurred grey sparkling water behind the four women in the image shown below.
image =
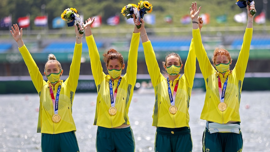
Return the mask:
[[[143,92],[143,93],[142,93]],[[76,93],[73,118],[81,152],[95,152],[96,129],[93,125],[96,93]],[[192,92],[190,99],[190,128],[193,152],[202,150],[205,120],[200,119],[205,92]],[[242,92],[240,115],[243,152],[270,151],[270,91]],[[153,152],[155,127],[152,126],[153,90],[134,92],[129,108],[136,152]],[[0,152],[41,151],[38,122],[38,94],[0,95]]]

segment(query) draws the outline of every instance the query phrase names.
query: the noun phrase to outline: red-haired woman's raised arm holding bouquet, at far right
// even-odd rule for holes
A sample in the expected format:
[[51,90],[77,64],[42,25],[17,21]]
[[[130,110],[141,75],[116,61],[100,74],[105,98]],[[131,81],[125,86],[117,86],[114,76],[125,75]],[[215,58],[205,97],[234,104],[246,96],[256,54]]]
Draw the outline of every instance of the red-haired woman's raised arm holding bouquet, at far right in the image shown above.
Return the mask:
[[236,76],[238,79],[243,80],[245,76],[245,72],[247,69],[247,62],[249,57],[250,44],[252,39],[253,32],[253,18],[254,15],[250,13],[250,10],[253,9],[256,12],[255,5],[247,5],[247,28],[243,38],[243,44],[238,56],[238,59],[235,64]]

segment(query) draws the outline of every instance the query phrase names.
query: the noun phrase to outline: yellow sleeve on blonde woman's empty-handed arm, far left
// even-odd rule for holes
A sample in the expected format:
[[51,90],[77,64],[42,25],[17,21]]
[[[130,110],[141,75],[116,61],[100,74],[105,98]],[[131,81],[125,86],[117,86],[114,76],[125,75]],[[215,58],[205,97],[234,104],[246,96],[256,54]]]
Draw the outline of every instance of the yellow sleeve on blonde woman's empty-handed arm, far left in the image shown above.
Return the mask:
[[33,81],[33,84],[37,92],[40,92],[42,89],[42,86],[46,83],[46,81],[43,80],[43,76],[40,73],[37,64],[35,63],[34,59],[32,58],[26,46],[23,45],[22,47],[20,47],[19,51],[21,55],[23,56],[23,60],[28,68],[31,80]]

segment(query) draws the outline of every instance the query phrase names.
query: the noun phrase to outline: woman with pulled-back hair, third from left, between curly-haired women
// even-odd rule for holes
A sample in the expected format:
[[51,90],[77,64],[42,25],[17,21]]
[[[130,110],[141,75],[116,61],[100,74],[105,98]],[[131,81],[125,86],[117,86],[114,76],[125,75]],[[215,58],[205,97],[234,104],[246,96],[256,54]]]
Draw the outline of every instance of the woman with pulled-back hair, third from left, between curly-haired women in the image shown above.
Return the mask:
[[[198,18],[200,28],[203,20]],[[148,39],[141,18],[141,38],[148,73],[155,89],[155,104],[153,108],[153,126],[156,126],[155,152],[190,152],[192,139],[189,127],[189,103],[193,80],[196,71],[196,56],[193,40],[190,43],[189,54],[185,63],[184,74],[181,76],[183,64],[177,53],[170,53],[163,62],[168,76],[159,69],[151,41]],[[140,24],[136,19],[135,24]]]

